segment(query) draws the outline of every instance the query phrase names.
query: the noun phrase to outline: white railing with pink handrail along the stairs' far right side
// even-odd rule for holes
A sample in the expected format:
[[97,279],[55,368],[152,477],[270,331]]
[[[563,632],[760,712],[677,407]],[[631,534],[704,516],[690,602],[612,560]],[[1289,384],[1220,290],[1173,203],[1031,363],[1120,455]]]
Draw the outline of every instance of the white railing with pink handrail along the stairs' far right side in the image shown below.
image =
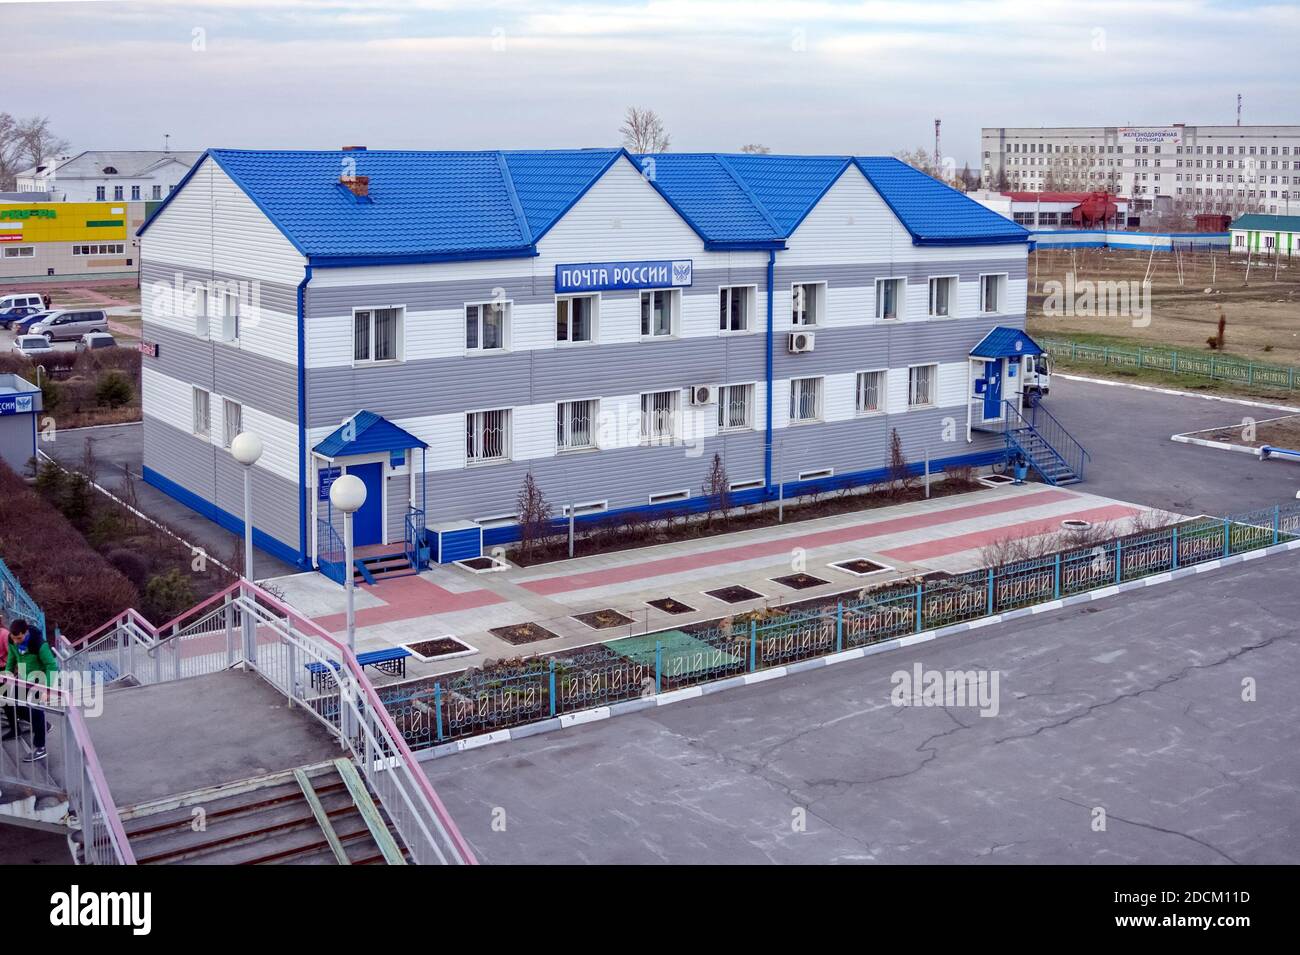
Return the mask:
[[[126,611],[61,650],[65,669],[127,685],[254,670],[351,754],[412,861],[473,864],[352,650],[261,587],[240,579],[160,628]],[[312,680],[312,670],[334,676]]]

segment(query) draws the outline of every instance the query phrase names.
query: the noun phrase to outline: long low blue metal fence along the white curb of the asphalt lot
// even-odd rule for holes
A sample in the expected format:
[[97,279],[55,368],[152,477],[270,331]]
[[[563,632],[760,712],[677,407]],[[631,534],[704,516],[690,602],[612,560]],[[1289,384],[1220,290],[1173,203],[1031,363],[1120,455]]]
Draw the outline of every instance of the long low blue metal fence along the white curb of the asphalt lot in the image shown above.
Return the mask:
[[1300,541],[1300,502],[380,687],[412,747],[696,686]]

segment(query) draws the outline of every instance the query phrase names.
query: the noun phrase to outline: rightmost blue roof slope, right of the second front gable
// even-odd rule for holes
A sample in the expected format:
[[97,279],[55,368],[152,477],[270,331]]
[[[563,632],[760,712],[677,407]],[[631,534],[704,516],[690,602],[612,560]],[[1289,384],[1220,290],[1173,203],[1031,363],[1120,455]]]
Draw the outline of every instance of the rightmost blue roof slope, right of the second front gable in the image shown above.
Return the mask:
[[1028,242],[1028,231],[892,156],[859,156],[858,168],[911,234],[914,246]]

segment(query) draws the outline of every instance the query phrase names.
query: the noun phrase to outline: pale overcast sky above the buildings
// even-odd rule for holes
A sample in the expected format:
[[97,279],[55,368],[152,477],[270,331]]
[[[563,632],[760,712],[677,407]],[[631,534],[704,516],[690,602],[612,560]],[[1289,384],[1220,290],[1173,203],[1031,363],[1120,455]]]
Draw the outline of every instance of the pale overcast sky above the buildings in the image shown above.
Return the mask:
[[8,3],[0,110],[74,148],[610,146],[976,165],[982,126],[1300,122],[1300,4]]

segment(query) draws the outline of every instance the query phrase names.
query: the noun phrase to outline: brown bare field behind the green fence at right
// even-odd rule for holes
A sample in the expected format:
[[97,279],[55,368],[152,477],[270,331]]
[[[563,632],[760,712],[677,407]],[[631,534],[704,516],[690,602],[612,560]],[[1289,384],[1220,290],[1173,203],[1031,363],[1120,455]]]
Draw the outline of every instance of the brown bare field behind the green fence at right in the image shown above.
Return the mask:
[[[1275,365],[1300,365],[1300,260],[1251,262],[1226,252],[1118,252],[1053,249],[1030,256],[1028,330],[1045,338],[1117,346],[1165,346],[1209,353],[1206,339],[1219,312],[1227,320],[1221,353]],[[1076,281],[1141,282],[1152,270],[1150,324],[1134,327],[1130,316],[1060,317],[1044,314],[1045,283]],[[1179,274],[1182,273],[1182,274]],[[1206,291],[1209,290],[1209,291]]]

